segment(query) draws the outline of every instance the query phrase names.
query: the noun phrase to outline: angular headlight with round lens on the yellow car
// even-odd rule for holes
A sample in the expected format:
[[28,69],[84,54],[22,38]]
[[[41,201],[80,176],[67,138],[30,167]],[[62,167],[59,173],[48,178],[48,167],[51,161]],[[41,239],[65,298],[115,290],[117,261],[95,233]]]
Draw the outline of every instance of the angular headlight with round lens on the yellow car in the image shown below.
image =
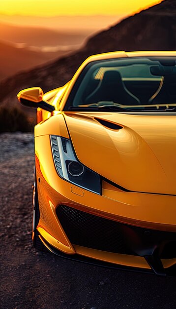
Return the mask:
[[51,135],[51,145],[55,166],[61,178],[101,194],[100,176],[78,161],[69,139]]

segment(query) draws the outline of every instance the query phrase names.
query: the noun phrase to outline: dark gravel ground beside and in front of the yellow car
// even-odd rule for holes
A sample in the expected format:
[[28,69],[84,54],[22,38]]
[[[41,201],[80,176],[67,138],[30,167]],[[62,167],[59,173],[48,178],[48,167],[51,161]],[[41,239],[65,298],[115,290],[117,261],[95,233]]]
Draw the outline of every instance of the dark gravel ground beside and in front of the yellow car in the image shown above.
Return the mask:
[[34,149],[0,135],[0,309],[176,309],[176,278],[89,266],[31,243]]

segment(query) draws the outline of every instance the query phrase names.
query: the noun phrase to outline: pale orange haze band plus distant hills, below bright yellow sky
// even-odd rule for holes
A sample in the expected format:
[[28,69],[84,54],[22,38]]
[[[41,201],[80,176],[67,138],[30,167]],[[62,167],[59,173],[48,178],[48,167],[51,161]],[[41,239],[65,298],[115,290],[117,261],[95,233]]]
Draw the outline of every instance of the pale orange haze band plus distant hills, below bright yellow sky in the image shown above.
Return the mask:
[[117,16],[21,16],[0,14],[0,79],[79,49]]

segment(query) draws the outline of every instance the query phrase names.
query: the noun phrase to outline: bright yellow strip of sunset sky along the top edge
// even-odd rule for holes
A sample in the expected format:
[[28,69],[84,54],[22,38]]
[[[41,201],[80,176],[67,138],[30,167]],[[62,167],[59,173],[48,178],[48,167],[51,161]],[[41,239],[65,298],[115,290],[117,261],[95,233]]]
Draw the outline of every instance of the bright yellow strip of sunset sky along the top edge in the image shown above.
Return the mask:
[[35,16],[128,15],[161,0],[0,0],[0,13]]

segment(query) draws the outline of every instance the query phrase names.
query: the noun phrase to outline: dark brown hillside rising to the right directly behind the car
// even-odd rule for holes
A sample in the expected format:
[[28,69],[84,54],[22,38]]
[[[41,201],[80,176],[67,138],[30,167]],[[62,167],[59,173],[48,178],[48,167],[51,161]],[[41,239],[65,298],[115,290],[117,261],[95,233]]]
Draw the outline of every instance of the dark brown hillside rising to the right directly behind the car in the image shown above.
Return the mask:
[[4,80],[0,83],[1,104],[17,102],[16,94],[23,88],[40,86],[48,91],[63,85],[91,54],[115,50],[175,49],[176,0],[164,0],[90,38],[79,51]]

